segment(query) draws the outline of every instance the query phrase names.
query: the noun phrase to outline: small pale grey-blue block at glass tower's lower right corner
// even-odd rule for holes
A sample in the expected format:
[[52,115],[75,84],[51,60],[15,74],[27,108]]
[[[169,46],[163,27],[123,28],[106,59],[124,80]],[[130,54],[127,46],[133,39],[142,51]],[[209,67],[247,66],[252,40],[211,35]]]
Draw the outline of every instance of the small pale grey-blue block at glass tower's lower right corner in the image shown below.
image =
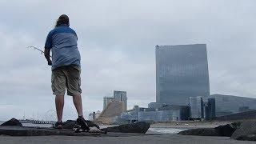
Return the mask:
[[203,102],[202,97],[190,97],[190,118],[201,119],[203,117]]

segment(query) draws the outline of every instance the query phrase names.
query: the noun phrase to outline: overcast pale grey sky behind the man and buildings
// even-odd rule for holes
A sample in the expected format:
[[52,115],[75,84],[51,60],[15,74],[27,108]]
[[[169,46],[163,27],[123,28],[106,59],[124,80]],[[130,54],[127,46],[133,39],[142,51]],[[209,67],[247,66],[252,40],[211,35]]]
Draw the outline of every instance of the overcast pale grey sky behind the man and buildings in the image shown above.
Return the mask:
[[[128,109],[155,102],[155,45],[206,43],[210,94],[256,98],[256,1],[0,1],[0,120],[54,119],[50,66],[38,51],[60,14],[70,16],[82,55],[87,115],[126,90]],[[77,117],[66,96],[64,121]]]

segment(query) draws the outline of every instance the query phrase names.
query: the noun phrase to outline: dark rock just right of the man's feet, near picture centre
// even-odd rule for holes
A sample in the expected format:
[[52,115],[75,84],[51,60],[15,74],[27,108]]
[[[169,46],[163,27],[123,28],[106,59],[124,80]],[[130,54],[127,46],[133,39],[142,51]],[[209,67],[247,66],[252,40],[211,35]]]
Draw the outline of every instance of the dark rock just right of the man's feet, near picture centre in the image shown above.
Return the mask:
[[106,130],[107,132],[117,132],[117,133],[142,133],[142,134],[145,134],[149,128],[150,128],[150,123],[135,122],[132,124],[107,127],[102,130],[103,131]]

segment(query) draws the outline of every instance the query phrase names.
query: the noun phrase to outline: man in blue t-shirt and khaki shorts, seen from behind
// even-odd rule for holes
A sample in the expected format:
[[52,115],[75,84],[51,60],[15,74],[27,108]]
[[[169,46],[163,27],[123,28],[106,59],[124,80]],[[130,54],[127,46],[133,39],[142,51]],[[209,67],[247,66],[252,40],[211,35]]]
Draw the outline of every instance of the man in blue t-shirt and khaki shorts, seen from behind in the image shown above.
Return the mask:
[[[52,51],[52,61],[50,60]],[[62,14],[54,30],[51,30],[46,38],[44,54],[49,66],[52,66],[51,88],[55,95],[55,106],[58,122],[55,128],[62,129],[62,113],[64,106],[64,95],[72,96],[74,106],[78,112],[78,125],[83,130],[90,130],[82,115],[81,93],[81,65],[78,50],[78,36],[70,28],[70,20],[66,14]]]

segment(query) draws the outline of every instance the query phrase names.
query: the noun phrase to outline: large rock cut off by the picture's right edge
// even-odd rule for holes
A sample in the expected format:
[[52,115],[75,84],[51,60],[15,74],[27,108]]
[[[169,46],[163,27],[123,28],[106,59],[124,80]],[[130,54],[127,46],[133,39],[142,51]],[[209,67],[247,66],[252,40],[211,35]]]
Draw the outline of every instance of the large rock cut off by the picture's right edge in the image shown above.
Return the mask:
[[255,139],[256,134],[256,121],[242,122],[237,130],[231,135],[230,138],[237,140]]

